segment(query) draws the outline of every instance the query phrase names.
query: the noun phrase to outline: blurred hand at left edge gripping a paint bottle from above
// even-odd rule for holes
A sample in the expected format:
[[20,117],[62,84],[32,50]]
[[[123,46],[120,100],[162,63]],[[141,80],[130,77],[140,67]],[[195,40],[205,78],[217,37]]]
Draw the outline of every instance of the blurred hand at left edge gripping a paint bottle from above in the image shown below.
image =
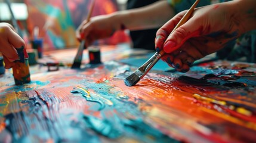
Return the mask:
[[19,60],[15,48],[21,48],[25,42],[8,23],[0,23],[0,52],[4,56],[5,69],[14,66],[14,61]]

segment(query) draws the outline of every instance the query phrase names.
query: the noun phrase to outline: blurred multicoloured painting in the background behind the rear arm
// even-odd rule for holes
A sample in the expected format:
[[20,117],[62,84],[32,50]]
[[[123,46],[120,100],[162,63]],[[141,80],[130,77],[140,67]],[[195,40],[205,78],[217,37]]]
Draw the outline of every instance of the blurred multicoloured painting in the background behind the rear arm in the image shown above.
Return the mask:
[[[33,30],[38,27],[39,38],[44,39],[44,51],[78,47],[75,30],[86,19],[90,10],[90,0],[25,0],[24,2],[29,13],[27,29],[30,38],[33,39]],[[115,0],[96,0],[92,17],[115,11],[118,11]],[[117,44],[127,41],[129,41],[127,34],[116,32],[111,38],[97,41],[97,44]]]

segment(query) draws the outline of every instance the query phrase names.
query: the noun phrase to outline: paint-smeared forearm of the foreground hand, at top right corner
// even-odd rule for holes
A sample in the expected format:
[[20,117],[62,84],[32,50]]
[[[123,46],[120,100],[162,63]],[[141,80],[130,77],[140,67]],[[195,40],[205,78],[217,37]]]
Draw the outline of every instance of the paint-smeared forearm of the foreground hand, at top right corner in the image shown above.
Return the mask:
[[235,13],[239,13],[240,30],[245,33],[256,29],[256,1],[235,0]]

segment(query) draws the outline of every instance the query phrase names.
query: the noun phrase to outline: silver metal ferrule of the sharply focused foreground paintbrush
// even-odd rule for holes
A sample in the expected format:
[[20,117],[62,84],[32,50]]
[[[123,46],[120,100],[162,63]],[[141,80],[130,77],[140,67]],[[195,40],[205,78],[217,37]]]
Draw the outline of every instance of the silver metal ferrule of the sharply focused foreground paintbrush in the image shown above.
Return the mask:
[[140,79],[143,78],[161,57],[162,55],[159,52],[156,52],[149,60],[146,61],[146,63],[139,67],[134,73],[138,77],[140,77]]

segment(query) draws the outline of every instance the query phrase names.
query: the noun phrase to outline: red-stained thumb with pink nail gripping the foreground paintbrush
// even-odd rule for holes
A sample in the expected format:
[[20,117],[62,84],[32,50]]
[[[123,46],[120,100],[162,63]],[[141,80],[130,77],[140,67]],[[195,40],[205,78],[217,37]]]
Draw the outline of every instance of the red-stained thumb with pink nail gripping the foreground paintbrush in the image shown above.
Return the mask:
[[178,27],[171,35],[166,39],[164,43],[164,51],[171,53],[180,48],[188,39],[197,37],[202,34],[203,26],[200,26],[198,22],[190,19],[182,26]]

